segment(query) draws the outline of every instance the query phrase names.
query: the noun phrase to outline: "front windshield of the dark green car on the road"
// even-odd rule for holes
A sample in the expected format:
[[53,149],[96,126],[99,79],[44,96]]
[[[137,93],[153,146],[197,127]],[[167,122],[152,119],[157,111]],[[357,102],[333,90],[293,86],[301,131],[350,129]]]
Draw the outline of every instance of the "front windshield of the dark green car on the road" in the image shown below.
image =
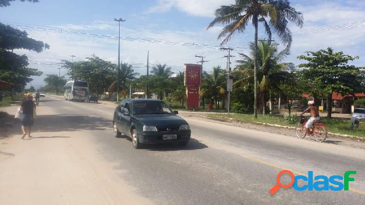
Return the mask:
[[133,115],[172,114],[172,110],[162,101],[133,102]]

